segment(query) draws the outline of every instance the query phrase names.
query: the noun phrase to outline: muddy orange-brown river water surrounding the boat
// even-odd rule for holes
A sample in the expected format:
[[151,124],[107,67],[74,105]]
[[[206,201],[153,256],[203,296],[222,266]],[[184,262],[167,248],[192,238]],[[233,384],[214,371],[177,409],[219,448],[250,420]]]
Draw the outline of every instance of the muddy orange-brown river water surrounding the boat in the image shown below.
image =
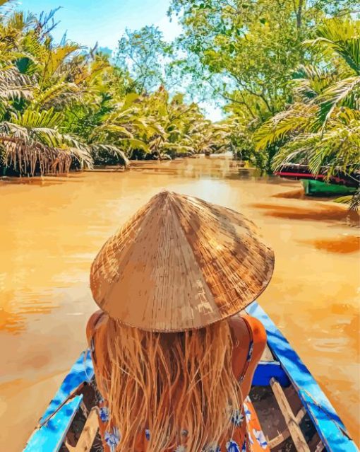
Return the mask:
[[260,304],[359,444],[357,217],[304,198],[299,182],[253,174],[229,158],[189,158],[0,182],[1,451],[21,450],[85,347],[97,251],[163,188],[232,207],[260,226],[275,250]]

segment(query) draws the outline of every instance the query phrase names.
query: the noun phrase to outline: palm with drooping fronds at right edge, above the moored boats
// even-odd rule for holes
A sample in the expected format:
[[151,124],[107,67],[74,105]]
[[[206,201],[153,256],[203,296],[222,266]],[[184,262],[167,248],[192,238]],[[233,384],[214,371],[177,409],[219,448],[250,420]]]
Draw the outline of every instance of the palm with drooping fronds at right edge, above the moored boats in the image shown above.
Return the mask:
[[317,35],[304,45],[332,63],[332,70],[324,63],[299,68],[296,102],[260,126],[254,140],[258,150],[280,146],[275,169],[306,163],[314,175],[325,171],[330,178],[342,170],[352,177],[360,170],[360,21],[329,19]]

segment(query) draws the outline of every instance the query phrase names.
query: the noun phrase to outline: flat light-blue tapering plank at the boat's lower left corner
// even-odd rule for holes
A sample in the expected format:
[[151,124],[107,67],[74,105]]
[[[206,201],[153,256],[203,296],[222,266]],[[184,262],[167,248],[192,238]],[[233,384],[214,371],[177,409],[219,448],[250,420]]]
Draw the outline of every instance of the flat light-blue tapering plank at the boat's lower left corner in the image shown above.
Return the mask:
[[80,407],[82,395],[63,405],[49,421],[34,431],[23,452],[57,452],[63,444],[71,422]]

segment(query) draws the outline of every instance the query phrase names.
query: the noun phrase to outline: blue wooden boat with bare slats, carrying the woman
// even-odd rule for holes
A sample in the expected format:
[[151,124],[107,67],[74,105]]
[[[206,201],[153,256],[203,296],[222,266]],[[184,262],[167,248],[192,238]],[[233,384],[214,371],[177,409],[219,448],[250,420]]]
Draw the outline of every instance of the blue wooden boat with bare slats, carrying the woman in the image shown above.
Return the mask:
[[[253,378],[250,398],[271,451],[355,452],[340,417],[289,342],[253,302],[246,312],[268,333],[268,347]],[[24,452],[102,450],[97,390],[85,350],[61,384]]]

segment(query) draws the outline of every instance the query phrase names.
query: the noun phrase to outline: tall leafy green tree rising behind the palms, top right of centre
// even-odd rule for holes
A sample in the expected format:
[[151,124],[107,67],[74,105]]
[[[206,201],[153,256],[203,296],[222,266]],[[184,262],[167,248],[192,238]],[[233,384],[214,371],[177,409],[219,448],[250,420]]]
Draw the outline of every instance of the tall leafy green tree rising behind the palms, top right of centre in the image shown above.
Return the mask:
[[[288,81],[306,62],[301,42],[313,37],[326,14],[356,2],[313,0],[173,0],[184,33],[178,45],[191,55],[182,62],[195,79],[260,122],[291,100]],[[189,63],[191,60],[191,63]]]

